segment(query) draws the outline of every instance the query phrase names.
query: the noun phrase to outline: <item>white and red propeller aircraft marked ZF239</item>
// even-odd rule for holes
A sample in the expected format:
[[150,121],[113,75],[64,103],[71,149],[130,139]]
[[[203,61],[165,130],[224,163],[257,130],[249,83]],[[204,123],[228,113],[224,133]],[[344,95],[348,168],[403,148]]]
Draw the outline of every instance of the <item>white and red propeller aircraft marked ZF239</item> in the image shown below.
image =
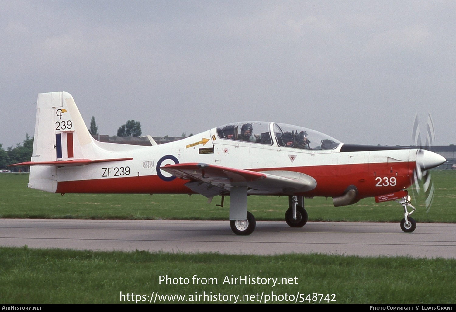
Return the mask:
[[[361,198],[396,200],[401,228],[415,230],[415,208],[406,191],[414,171],[446,161],[422,149],[348,145],[323,133],[275,122],[248,121],[216,127],[183,140],[131,146],[94,140],[73,97],[38,94],[28,187],[52,193],[229,195],[231,229],[249,235],[255,218],[248,195],[289,197],[290,227],[307,222],[304,197],[332,197],[334,206]],[[416,176],[416,173],[415,173]],[[413,208],[411,212],[408,207]]]

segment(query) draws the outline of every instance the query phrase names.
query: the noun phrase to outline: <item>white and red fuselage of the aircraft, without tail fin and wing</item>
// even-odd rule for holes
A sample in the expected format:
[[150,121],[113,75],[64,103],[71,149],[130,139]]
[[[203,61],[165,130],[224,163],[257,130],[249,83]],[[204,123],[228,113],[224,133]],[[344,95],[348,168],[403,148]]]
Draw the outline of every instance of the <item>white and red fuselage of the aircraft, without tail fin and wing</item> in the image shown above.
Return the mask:
[[[60,167],[56,192],[193,193],[184,185],[188,180],[173,177],[160,169],[175,163],[206,163],[256,172],[304,173],[316,180],[316,187],[296,195],[308,197],[340,196],[349,185],[358,189],[358,198],[373,197],[405,189],[413,182],[418,149],[352,146],[337,140],[333,140],[332,148],[328,149],[290,147],[279,142],[274,125],[268,123],[270,133],[275,135],[269,135],[271,142],[267,144],[227,139],[220,134],[221,127],[156,146],[127,148],[94,142],[104,158],[131,157],[132,160]],[[322,144],[323,139],[315,139]],[[250,190],[249,194],[272,195],[261,190]]]

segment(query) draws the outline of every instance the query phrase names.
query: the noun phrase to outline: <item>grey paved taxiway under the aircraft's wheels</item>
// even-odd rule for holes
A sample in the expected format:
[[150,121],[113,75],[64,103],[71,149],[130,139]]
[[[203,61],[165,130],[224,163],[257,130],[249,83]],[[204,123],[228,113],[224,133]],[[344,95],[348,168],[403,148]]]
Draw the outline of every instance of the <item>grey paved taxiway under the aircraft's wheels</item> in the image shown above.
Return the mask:
[[0,219],[0,245],[78,250],[162,250],[274,255],[324,253],[360,256],[456,258],[456,224],[257,222],[236,236],[228,221]]

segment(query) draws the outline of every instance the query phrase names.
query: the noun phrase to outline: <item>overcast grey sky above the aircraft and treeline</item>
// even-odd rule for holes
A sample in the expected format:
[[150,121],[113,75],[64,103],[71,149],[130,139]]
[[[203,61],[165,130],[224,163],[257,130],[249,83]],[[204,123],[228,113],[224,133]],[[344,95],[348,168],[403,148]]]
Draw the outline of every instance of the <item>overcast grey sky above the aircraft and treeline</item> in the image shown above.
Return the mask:
[[38,93],[67,91],[107,135],[271,120],[411,144],[429,111],[436,144],[456,144],[455,16],[435,0],[2,1],[0,143],[33,135]]

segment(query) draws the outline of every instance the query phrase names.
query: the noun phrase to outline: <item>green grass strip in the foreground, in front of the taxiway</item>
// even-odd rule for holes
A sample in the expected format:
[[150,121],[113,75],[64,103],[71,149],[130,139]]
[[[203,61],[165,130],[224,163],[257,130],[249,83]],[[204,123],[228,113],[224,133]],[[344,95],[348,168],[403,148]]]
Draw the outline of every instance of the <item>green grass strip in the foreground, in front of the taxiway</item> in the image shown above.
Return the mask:
[[[217,278],[193,285],[192,276]],[[159,276],[189,279],[159,284]],[[293,278],[297,285],[229,285],[225,276]],[[294,279],[297,277],[296,279]],[[332,303],[456,303],[456,260],[341,255],[167,254],[0,248],[2,303],[120,303],[122,294],[336,295]],[[312,297],[312,295],[311,295]],[[143,297],[140,297],[142,299]],[[320,298],[320,297],[319,297]],[[310,298],[311,299],[311,298]],[[298,300],[299,301],[299,300]],[[127,302],[132,303],[132,302]],[[133,302],[134,303],[134,302]],[[186,302],[189,303],[189,302]],[[275,302],[280,303],[280,302]],[[303,303],[308,303],[304,301]],[[327,303],[324,300],[322,303]]]

